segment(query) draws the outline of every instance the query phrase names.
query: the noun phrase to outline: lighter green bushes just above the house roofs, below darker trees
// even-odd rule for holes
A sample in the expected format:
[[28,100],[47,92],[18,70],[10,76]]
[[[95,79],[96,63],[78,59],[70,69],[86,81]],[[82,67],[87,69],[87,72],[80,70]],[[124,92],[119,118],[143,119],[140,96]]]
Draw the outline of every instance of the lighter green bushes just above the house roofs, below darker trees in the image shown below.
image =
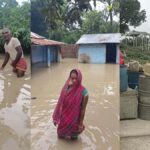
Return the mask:
[[65,24],[60,24],[58,29],[50,30],[50,39],[74,44],[83,34],[119,32],[119,24],[113,22],[112,31],[110,23],[105,22],[101,12],[86,12],[82,19],[82,25],[79,28],[66,28]]

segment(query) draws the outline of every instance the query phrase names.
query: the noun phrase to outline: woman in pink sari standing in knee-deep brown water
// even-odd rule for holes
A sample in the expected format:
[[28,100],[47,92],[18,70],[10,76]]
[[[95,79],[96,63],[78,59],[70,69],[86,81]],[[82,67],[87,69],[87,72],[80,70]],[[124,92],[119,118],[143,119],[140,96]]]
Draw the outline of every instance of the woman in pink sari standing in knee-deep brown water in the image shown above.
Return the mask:
[[64,85],[53,113],[59,138],[77,139],[84,130],[83,119],[88,102],[88,92],[82,86],[80,70],[73,69]]

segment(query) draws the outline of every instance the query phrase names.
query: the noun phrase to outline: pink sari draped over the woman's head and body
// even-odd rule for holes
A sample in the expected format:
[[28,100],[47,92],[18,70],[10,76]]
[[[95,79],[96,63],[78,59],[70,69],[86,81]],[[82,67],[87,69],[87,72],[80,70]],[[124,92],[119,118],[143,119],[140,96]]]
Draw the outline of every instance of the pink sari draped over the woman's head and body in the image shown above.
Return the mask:
[[70,138],[72,135],[81,133],[78,128],[84,87],[81,84],[81,72],[75,70],[78,72],[78,83],[67,92],[70,77],[68,78],[53,113],[53,122],[58,125],[57,133],[59,137]]

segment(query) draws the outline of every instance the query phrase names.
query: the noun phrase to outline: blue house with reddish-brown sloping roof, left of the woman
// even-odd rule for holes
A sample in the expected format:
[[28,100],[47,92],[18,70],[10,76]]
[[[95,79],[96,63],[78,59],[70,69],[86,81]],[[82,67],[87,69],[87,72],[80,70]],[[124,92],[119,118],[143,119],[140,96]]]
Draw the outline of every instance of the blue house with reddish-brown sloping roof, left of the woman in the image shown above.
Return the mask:
[[31,64],[59,62],[61,59],[62,42],[48,40],[43,36],[31,32]]

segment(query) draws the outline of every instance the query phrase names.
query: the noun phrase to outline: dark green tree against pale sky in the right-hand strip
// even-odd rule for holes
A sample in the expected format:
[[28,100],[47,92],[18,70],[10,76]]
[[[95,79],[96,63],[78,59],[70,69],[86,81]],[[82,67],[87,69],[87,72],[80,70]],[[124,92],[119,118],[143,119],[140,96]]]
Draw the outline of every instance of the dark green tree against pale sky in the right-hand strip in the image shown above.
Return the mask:
[[129,31],[129,26],[137,27],[146,21],[145,10],[140,10],[138,0],[120,1],[120,32]]

